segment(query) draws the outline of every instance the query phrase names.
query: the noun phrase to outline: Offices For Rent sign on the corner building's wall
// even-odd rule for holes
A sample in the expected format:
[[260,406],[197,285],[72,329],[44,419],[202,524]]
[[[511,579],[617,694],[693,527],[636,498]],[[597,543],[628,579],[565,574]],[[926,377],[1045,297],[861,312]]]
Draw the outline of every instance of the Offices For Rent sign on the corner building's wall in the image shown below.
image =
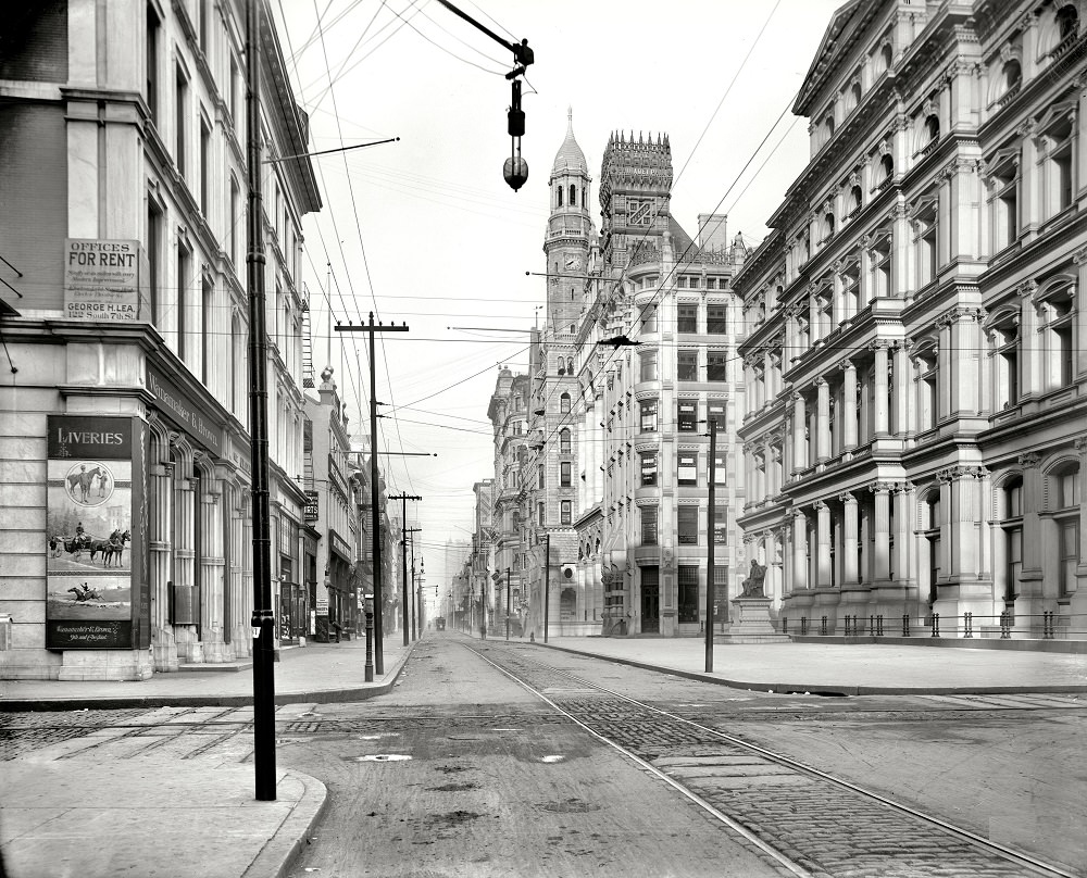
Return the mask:
[[65,238],[64,316],[139,319],[139,241]]

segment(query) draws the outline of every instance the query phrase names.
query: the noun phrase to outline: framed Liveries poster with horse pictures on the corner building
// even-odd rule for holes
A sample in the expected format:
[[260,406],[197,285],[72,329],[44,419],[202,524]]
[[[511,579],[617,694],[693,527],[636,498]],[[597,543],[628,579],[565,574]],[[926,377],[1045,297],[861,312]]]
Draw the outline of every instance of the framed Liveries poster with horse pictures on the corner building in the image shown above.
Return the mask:
[[146,645],[143,434],[136,418],[49,416],[46,649]]

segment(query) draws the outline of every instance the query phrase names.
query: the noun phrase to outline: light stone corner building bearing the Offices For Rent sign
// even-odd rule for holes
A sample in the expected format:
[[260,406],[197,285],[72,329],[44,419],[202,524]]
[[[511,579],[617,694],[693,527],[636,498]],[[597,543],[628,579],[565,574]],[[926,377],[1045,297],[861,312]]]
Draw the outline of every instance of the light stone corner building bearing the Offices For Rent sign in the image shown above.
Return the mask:
[[[4,27],[0,676],[246,655],[245,4],[58,0]],[[262,48],[263,154],[304,153],[270,26]],[[300,223],[320,208],[307,159],[264,165],[275,584],[303,564]]]

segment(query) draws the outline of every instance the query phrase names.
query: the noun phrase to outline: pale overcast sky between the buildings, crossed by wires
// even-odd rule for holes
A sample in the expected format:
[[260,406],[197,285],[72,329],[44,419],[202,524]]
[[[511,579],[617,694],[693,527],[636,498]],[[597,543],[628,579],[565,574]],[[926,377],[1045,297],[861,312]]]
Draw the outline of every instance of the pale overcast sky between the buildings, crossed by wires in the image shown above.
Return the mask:
[[470,538],[472,485],[492,476],[499,364],[527,367],[545,287],[525,272],[545,267],[547,183],[567,108],[598,228],[609,134],[667,133],[680,225],[697,237],[699,213],[725,212],[729,238],[757,244],[807,163],[807,121],[791,105],[842,2],[454,0],[536,54],[523,102],[529,175],[513,192],[502,179],[507,49],[435,0],[272,0],[311,148],[400,138],[314,159],[325,206],[304,223],[303,277],[313,365],[335,368],[359,437],[366,337],[329,333],[329,322],[374,311],[410,327],[378,336],[378,449],[438,455],[383,457],[390,492],[423,497],[409,518],[424,528],[428,595],[435,585],[443,595],[453,573],[436,547]]

